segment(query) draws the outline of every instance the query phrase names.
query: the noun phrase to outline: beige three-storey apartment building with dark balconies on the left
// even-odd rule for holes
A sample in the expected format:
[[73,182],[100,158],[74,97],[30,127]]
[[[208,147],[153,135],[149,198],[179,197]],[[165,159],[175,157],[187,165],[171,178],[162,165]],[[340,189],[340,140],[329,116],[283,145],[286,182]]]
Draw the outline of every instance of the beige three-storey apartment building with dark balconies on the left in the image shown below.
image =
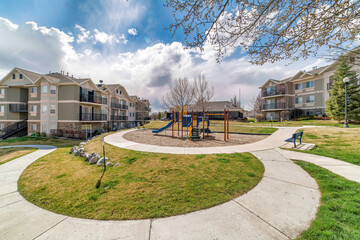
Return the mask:
[[96,85],[64,72],[38,74],[21,68],[0,81],[3,138],[20,131],[87,138],[97,130],[135,126],[135,117],[129,117],[135,112],[136,101],[120,84]]

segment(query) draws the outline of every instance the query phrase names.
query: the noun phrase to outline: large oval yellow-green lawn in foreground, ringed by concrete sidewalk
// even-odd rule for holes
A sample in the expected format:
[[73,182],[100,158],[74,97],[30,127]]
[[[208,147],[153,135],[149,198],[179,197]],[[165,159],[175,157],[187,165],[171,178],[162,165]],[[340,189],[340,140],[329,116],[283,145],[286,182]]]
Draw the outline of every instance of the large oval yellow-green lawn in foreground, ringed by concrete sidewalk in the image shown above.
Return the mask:
[[[86,144],[101,153],[101,139]],[[144,219],[209,208],[252,189],[264,167],[250,153],[171,155],[136,152],[106,144],[119,166],[107,169],[60,148],[31,164],[18,182],[20,193],[42,208],[90,219]]]

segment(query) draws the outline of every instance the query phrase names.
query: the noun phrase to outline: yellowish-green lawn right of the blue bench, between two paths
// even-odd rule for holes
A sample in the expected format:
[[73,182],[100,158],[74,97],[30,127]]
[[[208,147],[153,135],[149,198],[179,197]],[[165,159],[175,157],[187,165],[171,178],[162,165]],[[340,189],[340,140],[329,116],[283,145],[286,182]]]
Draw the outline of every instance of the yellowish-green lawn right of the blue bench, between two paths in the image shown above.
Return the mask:
[[303,141],[316,144],[315,149],[306,153],[360,165],[360,128],[319,127],[303,130]]

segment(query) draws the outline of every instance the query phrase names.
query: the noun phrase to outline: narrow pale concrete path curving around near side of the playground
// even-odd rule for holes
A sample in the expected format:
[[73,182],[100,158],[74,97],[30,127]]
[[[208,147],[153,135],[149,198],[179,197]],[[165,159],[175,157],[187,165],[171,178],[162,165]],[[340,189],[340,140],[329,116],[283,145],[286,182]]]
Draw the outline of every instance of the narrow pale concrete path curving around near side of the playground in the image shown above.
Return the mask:
[[[165,147],[150,144],[136,143],[123,138],[128,132],[139,131],[136,129],[121,131],[105,137],[105,142],[120,148],[142,152],[171,153],[171,154],[214,154],[214,153],[235,153],[235,152],[254,152],[273,149],[284,145],[284,139],[291,135],[300,127],[280,127],[275,133],[261,141],[233,146],[223,147]],[[304,127],[302,127],[304,128]]]

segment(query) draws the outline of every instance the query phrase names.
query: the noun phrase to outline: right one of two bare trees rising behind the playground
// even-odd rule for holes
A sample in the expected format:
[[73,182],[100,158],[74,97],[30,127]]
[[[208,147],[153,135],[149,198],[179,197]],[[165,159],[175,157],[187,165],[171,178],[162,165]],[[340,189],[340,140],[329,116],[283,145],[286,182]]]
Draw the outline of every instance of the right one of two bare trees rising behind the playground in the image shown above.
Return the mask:
[[209,85],[205,75],[199,75],[194,82],[194,99],[195,103],[202,109],[206,110],[209,107],[209,102],[214,96],[215,89]]

